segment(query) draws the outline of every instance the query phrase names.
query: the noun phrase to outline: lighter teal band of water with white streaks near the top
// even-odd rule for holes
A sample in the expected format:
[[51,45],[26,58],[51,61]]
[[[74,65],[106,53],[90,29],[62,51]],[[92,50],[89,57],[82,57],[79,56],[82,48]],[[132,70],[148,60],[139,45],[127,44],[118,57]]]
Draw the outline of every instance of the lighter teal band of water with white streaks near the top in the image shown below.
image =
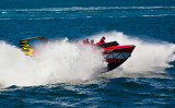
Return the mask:
[[44,9],[9,9],[0,10],[0,13],[2,13],[0,14],[0,17],[8,17],[11,20],[56,20],[82,17],[98,19],[98,16],[109,19],[131,16],[172,16],[175,14],[174,10],[175,7],[72,7]]

